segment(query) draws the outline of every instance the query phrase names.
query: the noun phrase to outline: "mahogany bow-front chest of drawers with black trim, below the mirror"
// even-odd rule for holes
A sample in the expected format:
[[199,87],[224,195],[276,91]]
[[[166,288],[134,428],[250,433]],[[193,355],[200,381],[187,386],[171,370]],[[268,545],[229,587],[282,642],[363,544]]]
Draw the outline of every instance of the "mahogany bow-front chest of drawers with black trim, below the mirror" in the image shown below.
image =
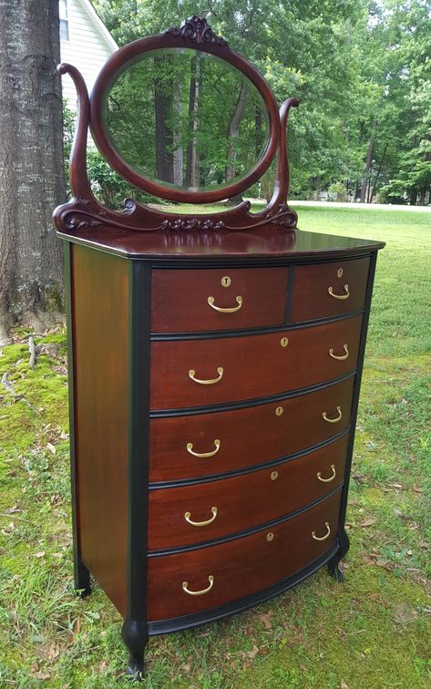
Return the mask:
[[[91,110],[63,70],[81,94],[79,153]],[[139,211],[139,227],[133,204],[123,215],[95,205],[79,187],[82,158],[75,199],[55,214],[76,586],[88,593],[91,574],[106,591],[140,678],[150,635],[241,612],[323,565],[342,580],[383,244],[298,230],[287,204],[245,230],[223,211],[166,216],[149,231],[154,211]]]

